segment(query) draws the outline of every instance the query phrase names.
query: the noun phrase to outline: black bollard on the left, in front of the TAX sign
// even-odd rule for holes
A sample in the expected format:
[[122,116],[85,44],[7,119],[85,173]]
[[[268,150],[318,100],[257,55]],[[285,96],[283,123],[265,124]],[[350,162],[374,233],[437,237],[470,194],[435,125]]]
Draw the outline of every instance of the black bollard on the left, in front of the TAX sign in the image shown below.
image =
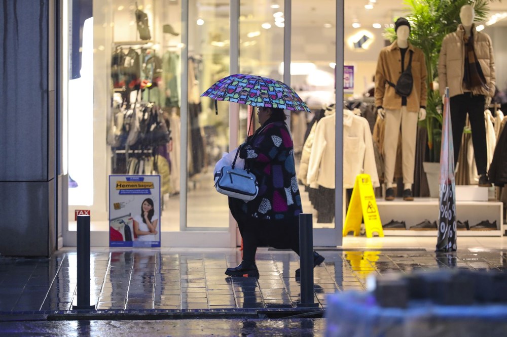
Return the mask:
[[78,216],[78,305],[74,310],[94,310],[90,305],[90,216]]

